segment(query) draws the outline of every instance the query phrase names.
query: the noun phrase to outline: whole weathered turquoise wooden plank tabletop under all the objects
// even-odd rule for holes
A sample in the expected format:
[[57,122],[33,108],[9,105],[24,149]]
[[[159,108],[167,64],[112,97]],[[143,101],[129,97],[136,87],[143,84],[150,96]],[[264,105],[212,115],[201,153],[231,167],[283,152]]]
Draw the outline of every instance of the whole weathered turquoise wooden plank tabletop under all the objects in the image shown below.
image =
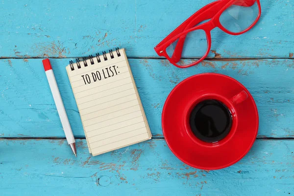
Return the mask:
[[[178,69],[153,47],[211,0],[2,0],[0,3],[0,195],[294,194],[294,2],[261,0],[262,16],[240,36],[212,31],[212,51]],[[65,66],[125,48],[152,139],[92,157]],[[64,137],[42,65],[50,58],[75,137]],[[194,58],[191,55],[189,58]],[[167,147],[161,112],[172,88],[197,73],[222,73],[256,101],[257,140],[237,164],[203,171]]]

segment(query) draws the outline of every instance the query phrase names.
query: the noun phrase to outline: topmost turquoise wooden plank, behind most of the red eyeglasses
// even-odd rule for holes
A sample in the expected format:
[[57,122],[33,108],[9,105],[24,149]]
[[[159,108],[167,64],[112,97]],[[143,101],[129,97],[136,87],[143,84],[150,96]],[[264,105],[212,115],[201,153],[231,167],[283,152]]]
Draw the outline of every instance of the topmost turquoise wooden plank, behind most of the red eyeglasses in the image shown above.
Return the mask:
[[[19,0],[0,7],[1,57],[77,57],[109,48],[157,57],[153,48],[212,0]],[[240,36],[214,29],[209,57],[293,56],[291,0],[261,0],[259,23]],[[205,42],[203,42],[205,43]],[[202,47],[202,46],[201,46]],[[187,54],[196,57],[191,49]]]

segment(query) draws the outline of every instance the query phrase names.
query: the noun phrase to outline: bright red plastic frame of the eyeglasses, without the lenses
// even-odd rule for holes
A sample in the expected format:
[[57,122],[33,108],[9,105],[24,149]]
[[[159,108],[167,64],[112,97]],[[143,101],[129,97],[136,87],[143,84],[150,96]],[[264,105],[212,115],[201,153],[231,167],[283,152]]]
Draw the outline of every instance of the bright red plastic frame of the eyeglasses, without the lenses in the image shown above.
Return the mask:
[[[241,35],[241,34],[247,32],[248,30],[250,30],[258,22],[258,20],[261,16],[260,0],[237,0],[237,2],[235,2],[235,1],[236,0],[217,0],[217,1],[214,1],[214,2],[211,2],[207,5],[205,5],[204,7],[199,9],[195,14],[193,14],[191,17],[189,17],[184,23],[182,23],[175,30],[173,30],[172,33],[170,33],[165,39],[163,39],[154,48],[154,50],[156,51],[156,53],[159,56],[164,56],[174,66],[176,66],[178,68],[188,68],[188,67],[192,67],[192,66],[200,63],[201,61],[203,61],[207,57],[207,55],[210,52],[210,49],[211,49],[211,33],[210,32],[212,29],[219,27],[222,31],[224,31],[225,33],[228,33],[230,35]],[[223,13],[224,10],[226,10],[228,7],[230,7],[232,5],[242,6],[242,3],[245,3],[244,1],[252,2],[251,5],[247,4],[247,7],[252,6],[255,2],[257,2],[258,9],[259,9],[258,16],[255,19],[255,21],[250,26],[248,26],[245,30],[243,30],[241,32],[231,32],[221,25],[221,22],[220,22],[221,14]],[[218,9],[219,7],[222,7],[221,10]],[[197,25],[200,22],[205,21],[205,20],[209,20],[209,21],[205,22],[203,24]],[[206,53],[202,56],[202,58],[198,59],[196,62],[194,62],[192,64],[184,65],[184,66],[177,65],[176,63],[180,61],[181,56],[182,56],[182,50],[183,50],[186,35],[191,31],[199,30],[199,29],[204,30],[205,34],[206,34],[206,40],[207,40]],[[172,43],[174,43],[177,39],[179,39],[179,40],[176,43],[176,47],[174,49],[172,57],[170,57],[168,55],[168,53],[166,52],[166,49]]]

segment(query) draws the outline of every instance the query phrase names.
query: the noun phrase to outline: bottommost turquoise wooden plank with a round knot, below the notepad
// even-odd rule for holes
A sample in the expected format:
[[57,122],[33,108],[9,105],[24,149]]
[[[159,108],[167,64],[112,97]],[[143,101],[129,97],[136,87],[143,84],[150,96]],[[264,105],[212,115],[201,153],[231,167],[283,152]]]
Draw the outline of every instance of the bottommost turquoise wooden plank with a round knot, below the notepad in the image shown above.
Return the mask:
[[[292,140],[257,140],[237,164],[196,170],[153,139],[92,157],[85,139],[78,155],[62,140],[0,140],[2,195],[252,196],[293,194]],[[234,188],[232,188],[234,187]]]

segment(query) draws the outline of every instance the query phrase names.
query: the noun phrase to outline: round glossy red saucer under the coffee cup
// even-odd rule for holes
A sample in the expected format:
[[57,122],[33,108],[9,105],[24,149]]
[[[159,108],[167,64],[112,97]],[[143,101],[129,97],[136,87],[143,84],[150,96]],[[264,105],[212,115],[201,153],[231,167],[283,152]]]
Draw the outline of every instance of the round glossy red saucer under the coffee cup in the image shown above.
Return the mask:
[[[232,108],[237,116],[236,129],[229,140],[215,146],[197,143],[185,127],[187,111],[195,100],[207,94],[229,99],[242,91],[248,98]],[[183,80],[172,90],[163,107],[162,129],[168,146],[181,161],[202,170],[218,170],[241,160],[252,147],[258,131],[258,111],[240,82],[222,74],[202,73]]]

